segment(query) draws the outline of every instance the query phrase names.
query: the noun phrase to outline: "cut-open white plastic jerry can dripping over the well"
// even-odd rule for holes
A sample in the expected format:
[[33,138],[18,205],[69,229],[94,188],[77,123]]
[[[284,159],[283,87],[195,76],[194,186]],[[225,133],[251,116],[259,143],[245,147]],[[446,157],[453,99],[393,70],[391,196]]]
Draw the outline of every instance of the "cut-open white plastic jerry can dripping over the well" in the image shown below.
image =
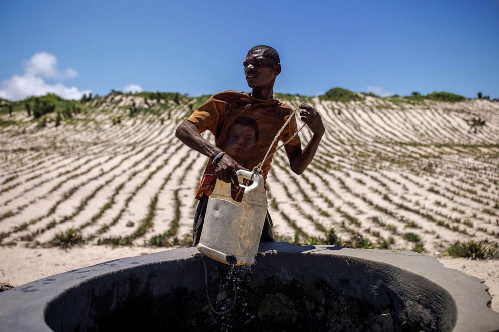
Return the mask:
[[230,265],[252,265],[267,215],[267,195],[261,175],[238,170],[240,178],[253,180],[244,188],[242,201],[232,199],[230,183],[217,180],[208,198],[198,250]]

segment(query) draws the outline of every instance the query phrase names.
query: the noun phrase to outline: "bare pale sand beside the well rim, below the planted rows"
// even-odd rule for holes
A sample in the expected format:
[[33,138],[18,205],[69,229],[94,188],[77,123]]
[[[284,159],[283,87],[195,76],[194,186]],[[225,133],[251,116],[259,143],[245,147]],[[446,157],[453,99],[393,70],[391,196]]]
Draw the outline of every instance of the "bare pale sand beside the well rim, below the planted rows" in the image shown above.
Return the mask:
[[[71,250],[57,248],[28,249],[0,247],[0,282],[14,286],[54,274],[94,265],[117,258],[163,251],[164,248],[86,245]],[[499,312],[499,260],[472,261],[464,258],[441,257],[446,268],[456,269],[483,279],[492,296],[492,310]]]

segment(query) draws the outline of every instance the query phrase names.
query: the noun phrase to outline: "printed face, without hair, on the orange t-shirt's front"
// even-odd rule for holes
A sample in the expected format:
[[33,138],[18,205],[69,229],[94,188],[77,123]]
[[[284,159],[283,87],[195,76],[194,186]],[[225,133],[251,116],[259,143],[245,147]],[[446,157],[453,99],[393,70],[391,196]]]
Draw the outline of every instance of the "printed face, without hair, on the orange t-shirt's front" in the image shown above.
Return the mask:
[[255,129],[243,124],[235,124],[230,128],[225,144],[225,153],[238,163],[244,162],[246,154],[255,146]]

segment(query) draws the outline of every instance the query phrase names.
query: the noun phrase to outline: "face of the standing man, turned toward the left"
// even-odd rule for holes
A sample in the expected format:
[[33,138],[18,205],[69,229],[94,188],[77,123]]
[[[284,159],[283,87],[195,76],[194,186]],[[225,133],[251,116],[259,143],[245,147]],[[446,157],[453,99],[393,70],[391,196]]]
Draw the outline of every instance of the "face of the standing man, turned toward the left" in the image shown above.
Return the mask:
[[266,57],[263,50],[256,49],[246,56],[244,74],[249,87],[273,87],[281,65]]

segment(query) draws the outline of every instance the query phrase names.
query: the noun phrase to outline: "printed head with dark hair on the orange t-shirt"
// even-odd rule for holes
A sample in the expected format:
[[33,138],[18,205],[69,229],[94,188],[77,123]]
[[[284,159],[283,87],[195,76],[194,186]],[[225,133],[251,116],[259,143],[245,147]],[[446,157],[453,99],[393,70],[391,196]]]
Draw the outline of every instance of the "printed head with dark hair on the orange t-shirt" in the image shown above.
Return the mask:
[[244,163],[249,150],[257,144],[258,134],[258,125],[255,120],[246,117],[237,118],[227,134],[225,152],[239,164]]

